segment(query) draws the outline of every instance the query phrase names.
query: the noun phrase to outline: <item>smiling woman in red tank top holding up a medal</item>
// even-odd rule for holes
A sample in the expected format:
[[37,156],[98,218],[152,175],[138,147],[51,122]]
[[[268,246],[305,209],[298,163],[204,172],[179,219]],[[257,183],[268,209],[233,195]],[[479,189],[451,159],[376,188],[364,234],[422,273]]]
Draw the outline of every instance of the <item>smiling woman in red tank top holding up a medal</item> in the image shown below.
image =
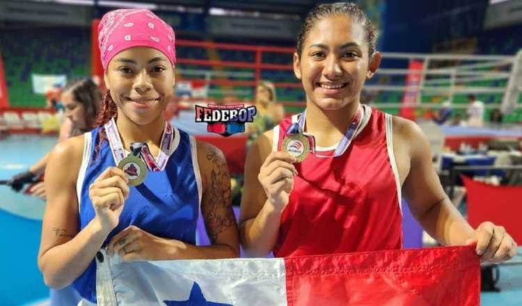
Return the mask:
[[[381,61],[376,40],[353,3],[321,4],[308,14],[294,53],[306,112],[264,133],[248,153],[244,249],[290,257],[401,248],[404,193],[442,244],[476,243],[483,260],[510,259],[516,244],[503,227],[487,222],[474,230],[445,195],[418,126],[361,105],[364,82]],[[315,137],[315,150],[301,162],[282,150],[291,124],[290,131],[301,127]]]

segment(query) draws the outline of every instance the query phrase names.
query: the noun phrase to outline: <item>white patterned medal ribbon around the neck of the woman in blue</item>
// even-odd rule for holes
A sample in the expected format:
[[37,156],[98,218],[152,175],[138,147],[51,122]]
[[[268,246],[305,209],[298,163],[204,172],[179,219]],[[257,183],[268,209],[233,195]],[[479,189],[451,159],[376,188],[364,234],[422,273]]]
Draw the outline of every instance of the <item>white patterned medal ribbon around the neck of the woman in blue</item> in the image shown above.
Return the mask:
[[[125,154],[125,150],[123,149],[123,145],[120,139],[120,134],[118,134],[118,129],[116,129],[116,122],[114,122],[114,118],[111,118],[109,122],[105,125],[105,133],[107,134],[107,139],[109,140],[109,145],[111,147],[111,152],[114,157],[114,161],[116,161],[116,165],[120,163],[122,159],[125,159],[127,154]],[[173,144],[173,128],[171,124],[165,122],[165,129],[163,131],[163,135],[161,135],[161,143],[159,145],[159,156],[156,159],[150,153],[149,147],[146,143],[131,143],[131,154],[138,155],[140,154],[143,161],[147,165],[152,172],[159,172],[165,169],[167,165],[168,156],[171,153],[171,147]]]

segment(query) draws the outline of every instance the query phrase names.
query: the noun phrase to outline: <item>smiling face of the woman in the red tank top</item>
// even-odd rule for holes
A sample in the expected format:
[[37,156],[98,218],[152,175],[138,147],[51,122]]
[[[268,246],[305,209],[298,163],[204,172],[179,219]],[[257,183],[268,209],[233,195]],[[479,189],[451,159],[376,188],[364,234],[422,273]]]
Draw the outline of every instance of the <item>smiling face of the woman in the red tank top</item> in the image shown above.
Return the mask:
[[338,110],[358,102],[365,79],[379,67],[381,56],[368,55],[367,33],[347,16],[322,17],[312,26],[301,56],[294,54],[294,74],[308,101],[323,110]]

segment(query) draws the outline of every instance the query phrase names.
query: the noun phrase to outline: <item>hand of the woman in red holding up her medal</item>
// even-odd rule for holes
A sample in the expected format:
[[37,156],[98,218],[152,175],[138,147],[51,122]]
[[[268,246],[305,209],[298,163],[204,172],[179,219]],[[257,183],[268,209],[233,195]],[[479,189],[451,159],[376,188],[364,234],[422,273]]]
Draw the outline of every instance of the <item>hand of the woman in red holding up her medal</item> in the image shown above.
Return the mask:
[[258,179],[267,194],[269,205],[283,211],[294,188],[294,175],[297,170],[294,156],[286,152],[271,152],[262,164]]

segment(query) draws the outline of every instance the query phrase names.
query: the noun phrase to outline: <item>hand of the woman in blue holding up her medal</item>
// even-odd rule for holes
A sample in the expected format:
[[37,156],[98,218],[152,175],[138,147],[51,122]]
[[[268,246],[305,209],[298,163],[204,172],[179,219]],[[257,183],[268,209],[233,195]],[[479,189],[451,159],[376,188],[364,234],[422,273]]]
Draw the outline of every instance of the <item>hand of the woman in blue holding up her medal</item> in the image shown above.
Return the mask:
[[105,230],[111,231],[118,225],[123,204],[129,196],[128,182],[120,168],[109,167],[89,186],[95,219]]

